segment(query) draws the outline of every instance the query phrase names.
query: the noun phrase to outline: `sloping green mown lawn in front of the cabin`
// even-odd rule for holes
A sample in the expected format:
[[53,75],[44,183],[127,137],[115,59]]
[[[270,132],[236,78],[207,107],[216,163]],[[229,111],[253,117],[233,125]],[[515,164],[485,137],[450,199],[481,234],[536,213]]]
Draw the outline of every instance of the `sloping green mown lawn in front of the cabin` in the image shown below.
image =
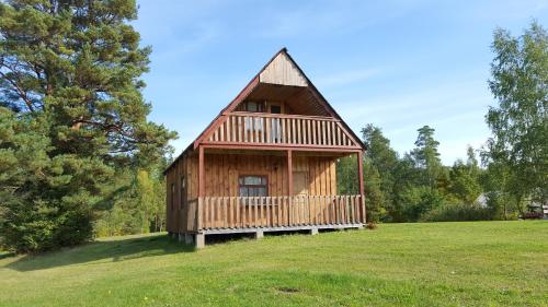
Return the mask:
[[0,306],[548,306],[545,221],[385,224],[198,251],[149,235],[0,258]]

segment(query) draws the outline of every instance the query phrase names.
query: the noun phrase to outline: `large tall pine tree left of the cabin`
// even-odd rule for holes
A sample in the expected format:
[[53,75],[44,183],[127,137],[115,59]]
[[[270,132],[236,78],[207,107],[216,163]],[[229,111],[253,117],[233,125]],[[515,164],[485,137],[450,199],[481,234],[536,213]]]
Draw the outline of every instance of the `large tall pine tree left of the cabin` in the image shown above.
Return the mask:
[[[12,234],[7,247],[30,251],[88,239],[115,174],[156,161],[175,137],[147,120],[140,75],[150,48],[139,47],[128,24],[136,16],[135,0],[0,3],[0,106],[13,127],[44,144],[41,165],[22,170],[35,177],[0,186],[0,233]],[[2,137],[4,154],[25,150],[26,140]]]

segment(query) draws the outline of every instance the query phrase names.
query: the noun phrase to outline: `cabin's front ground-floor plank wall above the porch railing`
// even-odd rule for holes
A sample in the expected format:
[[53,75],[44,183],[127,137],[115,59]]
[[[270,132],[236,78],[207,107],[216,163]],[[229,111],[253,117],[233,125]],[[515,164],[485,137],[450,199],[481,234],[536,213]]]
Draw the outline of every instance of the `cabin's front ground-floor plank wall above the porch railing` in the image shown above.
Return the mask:
[[[294,156],[294,176],[302,175],[306,185],[302,193],[335,196],[335,161],[332,156]],[[267,176],[269,196],[288,196],[285,155],[206,154],[204,164],[207,197],[239,196],[238,178],[243,175]]]

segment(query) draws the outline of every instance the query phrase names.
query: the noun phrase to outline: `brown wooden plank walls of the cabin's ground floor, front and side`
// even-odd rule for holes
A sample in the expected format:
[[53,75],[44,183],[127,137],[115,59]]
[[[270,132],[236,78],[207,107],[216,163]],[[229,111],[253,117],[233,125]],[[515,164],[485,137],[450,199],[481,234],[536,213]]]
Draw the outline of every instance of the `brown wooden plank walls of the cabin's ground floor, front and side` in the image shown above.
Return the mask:
[[[335,161],[336,157],[334,156],[294,155],[294,176],[295,174],[306,174],[305,177],[308,180],[306,182],[306,192],[299,194],[299,197],[335,196]],[[206,153],[204,165],[205,196],[208,199],[212,197],[239,197],[238,177],[240,175],[267,176],[269,197],[288,197],[287,156],[282,153],[277,155]],[[189,233],[196,231],[196,211],[198,206],[197,168],[197,155],[190,154],[176,161],[174,167],[167,173],[168,232]],[[182,194],[182,176],[186,178],[186,194]],[[171,185],[174,185],[174,193],[171,191]],[[204,210],[202,210],[202,214],[205,214]],[[229,219],[229,216],[226,217]],[[253,224],[256,221],[249,222]]]

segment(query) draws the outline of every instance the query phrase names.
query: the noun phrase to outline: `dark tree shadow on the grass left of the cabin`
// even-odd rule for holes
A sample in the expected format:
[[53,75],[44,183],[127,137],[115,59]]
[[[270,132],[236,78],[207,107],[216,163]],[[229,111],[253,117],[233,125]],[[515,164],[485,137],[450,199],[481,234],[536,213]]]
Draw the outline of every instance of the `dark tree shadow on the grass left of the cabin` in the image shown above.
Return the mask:
[[16,271],[35,271],[64,265],[125,261],[130,259],[194,251],[193,246],[179,243],[168,235],[151,235],[112,240],[101,240],[83,246],[65,248],[41,255],[26,255],[7,264]]

